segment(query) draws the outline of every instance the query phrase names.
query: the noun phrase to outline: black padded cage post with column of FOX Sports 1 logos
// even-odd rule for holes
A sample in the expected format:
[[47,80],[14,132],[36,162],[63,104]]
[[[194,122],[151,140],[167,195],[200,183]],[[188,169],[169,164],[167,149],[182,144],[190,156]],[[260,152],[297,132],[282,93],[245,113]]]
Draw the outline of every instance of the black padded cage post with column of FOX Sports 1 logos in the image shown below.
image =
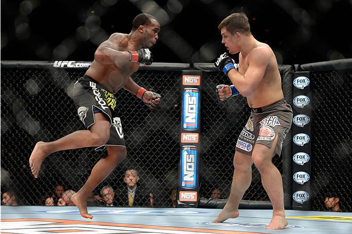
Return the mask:
[[309,210],[311,154],[311,80],[309,72],[295,72],[293,76],[292,124],[292,208]]

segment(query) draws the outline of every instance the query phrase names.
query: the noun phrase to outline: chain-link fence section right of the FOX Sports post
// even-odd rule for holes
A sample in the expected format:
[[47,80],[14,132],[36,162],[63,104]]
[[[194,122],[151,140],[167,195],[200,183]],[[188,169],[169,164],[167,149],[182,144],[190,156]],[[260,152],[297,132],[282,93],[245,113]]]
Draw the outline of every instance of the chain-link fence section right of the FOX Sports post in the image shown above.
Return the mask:
[[351,212],[352,69],[312,71],[310,77],[311,209]]

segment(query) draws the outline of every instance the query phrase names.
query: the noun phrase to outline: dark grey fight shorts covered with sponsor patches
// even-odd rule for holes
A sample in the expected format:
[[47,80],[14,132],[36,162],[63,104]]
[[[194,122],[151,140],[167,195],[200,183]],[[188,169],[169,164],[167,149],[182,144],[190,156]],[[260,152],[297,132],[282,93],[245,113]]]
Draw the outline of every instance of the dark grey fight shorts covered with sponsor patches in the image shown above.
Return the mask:
[[290,131],[292,119],[292,108],[285,99],[260,108],[252,108],[251,116],[238,136],[236,151],[252,155],[256,144],[271,148],[278,135],[274,154],[280,155],[286,134]]

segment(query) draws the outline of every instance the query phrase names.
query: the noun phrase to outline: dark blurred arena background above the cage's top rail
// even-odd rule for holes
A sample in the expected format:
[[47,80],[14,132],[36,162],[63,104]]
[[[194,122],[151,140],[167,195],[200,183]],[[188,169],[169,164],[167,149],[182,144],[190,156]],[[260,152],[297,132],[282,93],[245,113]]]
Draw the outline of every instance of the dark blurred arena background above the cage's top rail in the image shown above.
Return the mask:
[[114,32],[129,33],[142,12],[161,22],[154,62],[214,62],[226,51],[217,26],[234,12],[247,14],[253,35],[273,49],[279,64],[352,54],[347,0],[2,0],[1,60],[92,61],[101,42]]

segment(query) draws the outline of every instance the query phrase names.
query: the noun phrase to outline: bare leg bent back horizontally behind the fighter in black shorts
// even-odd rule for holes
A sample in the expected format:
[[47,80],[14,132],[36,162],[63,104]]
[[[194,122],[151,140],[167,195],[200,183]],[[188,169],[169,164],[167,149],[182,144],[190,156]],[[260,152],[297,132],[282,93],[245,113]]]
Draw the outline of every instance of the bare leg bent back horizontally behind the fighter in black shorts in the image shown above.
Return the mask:
[[52,142],[38,142],[29,158],[29,166],[34,177],[38,177],[43,160],[53,152],[105,144],[110,138],[108,116],[96,113],[94,119],[95,123],[89,130],[79,130]]

